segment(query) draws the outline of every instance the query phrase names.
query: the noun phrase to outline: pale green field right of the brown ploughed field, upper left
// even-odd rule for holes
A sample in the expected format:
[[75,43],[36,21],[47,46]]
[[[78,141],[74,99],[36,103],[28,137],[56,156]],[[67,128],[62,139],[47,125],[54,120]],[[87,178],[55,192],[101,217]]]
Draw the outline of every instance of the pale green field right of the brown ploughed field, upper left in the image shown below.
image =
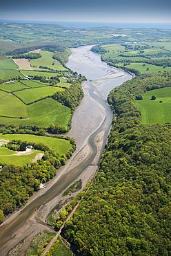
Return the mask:
[[30,64],[34,69],[42,70],[42,68],[39,68],[39,66],[48,66],[48,68],[53,68],[59,71],[66,70],[66,68],[64,68],[60,62],[52,59],[53,53],[49,51],[41,51],[40,53],[42,55],[41,58],[30,60]]

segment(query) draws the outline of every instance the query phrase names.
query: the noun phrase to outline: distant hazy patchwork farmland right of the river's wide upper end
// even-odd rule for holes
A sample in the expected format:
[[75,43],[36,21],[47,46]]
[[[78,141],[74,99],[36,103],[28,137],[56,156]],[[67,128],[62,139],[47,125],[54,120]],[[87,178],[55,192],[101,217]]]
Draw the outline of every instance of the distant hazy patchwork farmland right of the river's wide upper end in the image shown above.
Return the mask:
[[170,38],[165,38],[165,42],[163,40],[160,43],[147,40],[134,44],[103,45],[101,47],[105,53],[102,55],[102,60],[128,71],[139,71],[136,75],[163,71],[163,68],[165,71],[171,71],[169,40]]

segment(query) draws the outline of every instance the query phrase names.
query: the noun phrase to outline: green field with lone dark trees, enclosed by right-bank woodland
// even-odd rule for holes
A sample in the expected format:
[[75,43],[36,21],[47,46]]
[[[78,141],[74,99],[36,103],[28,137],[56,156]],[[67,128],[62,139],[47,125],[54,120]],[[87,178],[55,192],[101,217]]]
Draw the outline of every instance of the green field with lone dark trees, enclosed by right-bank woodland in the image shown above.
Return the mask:
[[[152,95],[156,95],[156,100],[150,100]],[[171,122],[171,87],[147,91],[143,100],[135,100],[135,104],[141,111],[141,122],[144,124]]]

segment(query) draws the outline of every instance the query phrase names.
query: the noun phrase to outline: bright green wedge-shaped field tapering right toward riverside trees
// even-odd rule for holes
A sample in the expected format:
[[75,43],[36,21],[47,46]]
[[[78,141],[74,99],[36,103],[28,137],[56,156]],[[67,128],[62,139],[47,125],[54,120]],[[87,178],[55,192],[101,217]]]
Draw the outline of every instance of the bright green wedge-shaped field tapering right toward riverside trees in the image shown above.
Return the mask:
[[42,88],[33,88],[27,89],[23,91],[17,91],[14,95],[17,95],[23,102],[26,104],[30,102],[34,102],[35,100],[39,100],[41,98],[47,97],[48,95],[53,95],[57,91],[65,91],[63,88],[58,88],[54,86],[46,86]]

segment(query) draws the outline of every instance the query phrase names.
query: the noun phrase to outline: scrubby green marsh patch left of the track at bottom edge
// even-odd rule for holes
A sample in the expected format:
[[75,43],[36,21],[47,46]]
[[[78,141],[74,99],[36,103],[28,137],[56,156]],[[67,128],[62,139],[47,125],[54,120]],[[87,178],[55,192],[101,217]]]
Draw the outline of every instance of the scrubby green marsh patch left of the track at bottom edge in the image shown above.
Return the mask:
[[42,249],[43,245],[48,241],[48,238],[54,237],[54,235],[56,235],[56,233],[47,231],[37,234],[34,239],[32,239],[30,246],[28,246],[25,256],[37,255],[37,250]]

